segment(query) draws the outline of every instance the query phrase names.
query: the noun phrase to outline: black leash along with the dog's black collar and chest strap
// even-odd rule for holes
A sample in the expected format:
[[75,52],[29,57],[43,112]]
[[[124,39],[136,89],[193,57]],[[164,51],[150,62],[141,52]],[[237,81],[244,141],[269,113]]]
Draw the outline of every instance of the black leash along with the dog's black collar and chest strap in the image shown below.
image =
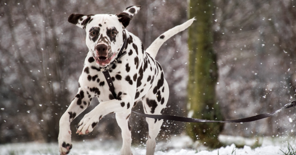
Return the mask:
[[[126,43],[127,43],[127,39],[126,39],[126,35],[125,35],[124,43],[123,43],[123,45],[122,45],[122,47],[121,47],[121,49],[120,49],[120,51],[118,53],[117,58],[113,62],[111,62],[110,64],[113,64],[113,63],[117,62],[121,57],[123,57],[126,54],[126,52],[122,53],[123,49],[126,47]],[[104,76],[106,78],[106,81],[108,83],[108,86],[110,88],[110,91],[111,91],[113,97],[117,98],[116,93],[115,93],[115,88],[114,88],[111,76],[109,74],[108,66],[103,68],[104,69],[103,74],[104,74]],[[190,123],[244,123],[244,122],[253,122],[253,121],[257,121],[257,120],[265,119],[267,117],[274,116],[277,113],[281,112],[282,110],[288,109],[288,108],[291,108],[291,107],[294,107],[294,106],[296,106],[296,101],[292,101],[292,102],[286,104],[283,108],[281,108],[281,109],[279,109],[279,110],[277,110],[275,112],[272,112],[272,113],[259,114],[259,115],[252,116],[252,117],[247,117],[247,118],[238,119],[238,120],[228,120],[228,121],[211,121],[211,120],[186,118],[186,117],[173,116],[173,115],[149,115],[149,114],[138,113],[138,112],[133,111],[133,110],[132,110],[132,112],[136,113],[138,115],[141,115],[143,117],[151,118],[151,119],[170,120],[170,121],[179,121],[179,122],[190,122]]]

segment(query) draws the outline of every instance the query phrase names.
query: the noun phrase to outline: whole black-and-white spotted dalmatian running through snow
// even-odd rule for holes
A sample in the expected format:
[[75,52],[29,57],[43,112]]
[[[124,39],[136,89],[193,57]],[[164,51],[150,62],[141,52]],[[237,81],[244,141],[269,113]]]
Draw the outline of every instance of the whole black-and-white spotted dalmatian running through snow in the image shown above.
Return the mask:
[[[125,29],[140,8],[140,5],[129,6],[116,15],[71,14],[69,16],[70,23],[85,29],[89,52],[79,77],[78,93],[60,119],[58,141],[61,155],[69,154],[72,149],[70,123],[90,105],[94,97],[98,98],[100,104],[83,117],[76,133],[79,135],[90,133],[99,120],[115,113],[123,139],[120,155],[132,155],[129,117],[132,107],[137,102],[143,103],[146,114],[160,115],[164,112],[169,97],[169,87],[162,67],[154,58],[167,39],[185,30],[194,19],[166,31],[144,51],[141,40]],[[125,38],[127,43],[123,47],[123,52],[126,54],[114,62],[124,45]],[[104,67],[110,70],[116,98],[113,97],[102,73]],[[147,118],[146,121],[149,129],[146,155],[154,155],[155,138],[163,120]]]

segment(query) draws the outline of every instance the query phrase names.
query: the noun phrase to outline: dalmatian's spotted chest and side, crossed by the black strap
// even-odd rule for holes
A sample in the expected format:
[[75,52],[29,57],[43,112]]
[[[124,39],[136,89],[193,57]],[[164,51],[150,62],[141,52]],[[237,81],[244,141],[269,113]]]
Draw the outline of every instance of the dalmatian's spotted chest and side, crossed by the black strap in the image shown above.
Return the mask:
[[[137,46],[141,47],[141,44],[137,43]],[[127,54],[117,63],[111,64],[109,69],[115,93],[129,94],[136,101],[152,87],[159,70],[157,62],[142,51],[143,48],[137,51],[138,48],[134,46],[136,47],[133,43],[129,43],[126,49]],[[79,78],[79,85],[84,87],[83,89],[87,91],[88,96],[97,97],[100,102],[113,99],[102,71],[103,68],[96,65],[92,54],[89,52]]]

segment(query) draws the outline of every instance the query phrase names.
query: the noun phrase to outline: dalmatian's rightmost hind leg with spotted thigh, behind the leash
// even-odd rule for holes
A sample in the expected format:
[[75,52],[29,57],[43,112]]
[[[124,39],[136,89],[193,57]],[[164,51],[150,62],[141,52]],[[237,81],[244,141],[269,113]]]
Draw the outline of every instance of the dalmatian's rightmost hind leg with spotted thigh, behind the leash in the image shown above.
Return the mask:
[[[157,87],[157,86],[156,86]],[[161,115],[165,109],[169,98],[169,87],[164,80],[164,85],[153,92],[153,87],[148,91],[148,94],[143,99],[143,107],[146,114]],[[157,137],[163,120],[146,118],[148,123],[149,135],[146,142],[146,155],[154,155],[155,152],[155,138]]]

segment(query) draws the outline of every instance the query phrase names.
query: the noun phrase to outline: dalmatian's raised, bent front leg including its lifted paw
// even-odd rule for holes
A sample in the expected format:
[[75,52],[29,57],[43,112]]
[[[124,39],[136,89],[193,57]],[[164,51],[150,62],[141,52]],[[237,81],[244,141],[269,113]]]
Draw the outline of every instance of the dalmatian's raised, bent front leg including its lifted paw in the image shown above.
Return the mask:
[[132,103],[134,103],[134,98],[131,97],[129,94],[125,93],[122,96],[117,97],[116,99],[101,102],[91,112],[84,115],[83,119],[78,124],[78,129],[76,133],[79,133],[80,135],[91,132],[93,128],[98,124],[99,120],[101,120],[107,114],[130,114],[132,109]]

